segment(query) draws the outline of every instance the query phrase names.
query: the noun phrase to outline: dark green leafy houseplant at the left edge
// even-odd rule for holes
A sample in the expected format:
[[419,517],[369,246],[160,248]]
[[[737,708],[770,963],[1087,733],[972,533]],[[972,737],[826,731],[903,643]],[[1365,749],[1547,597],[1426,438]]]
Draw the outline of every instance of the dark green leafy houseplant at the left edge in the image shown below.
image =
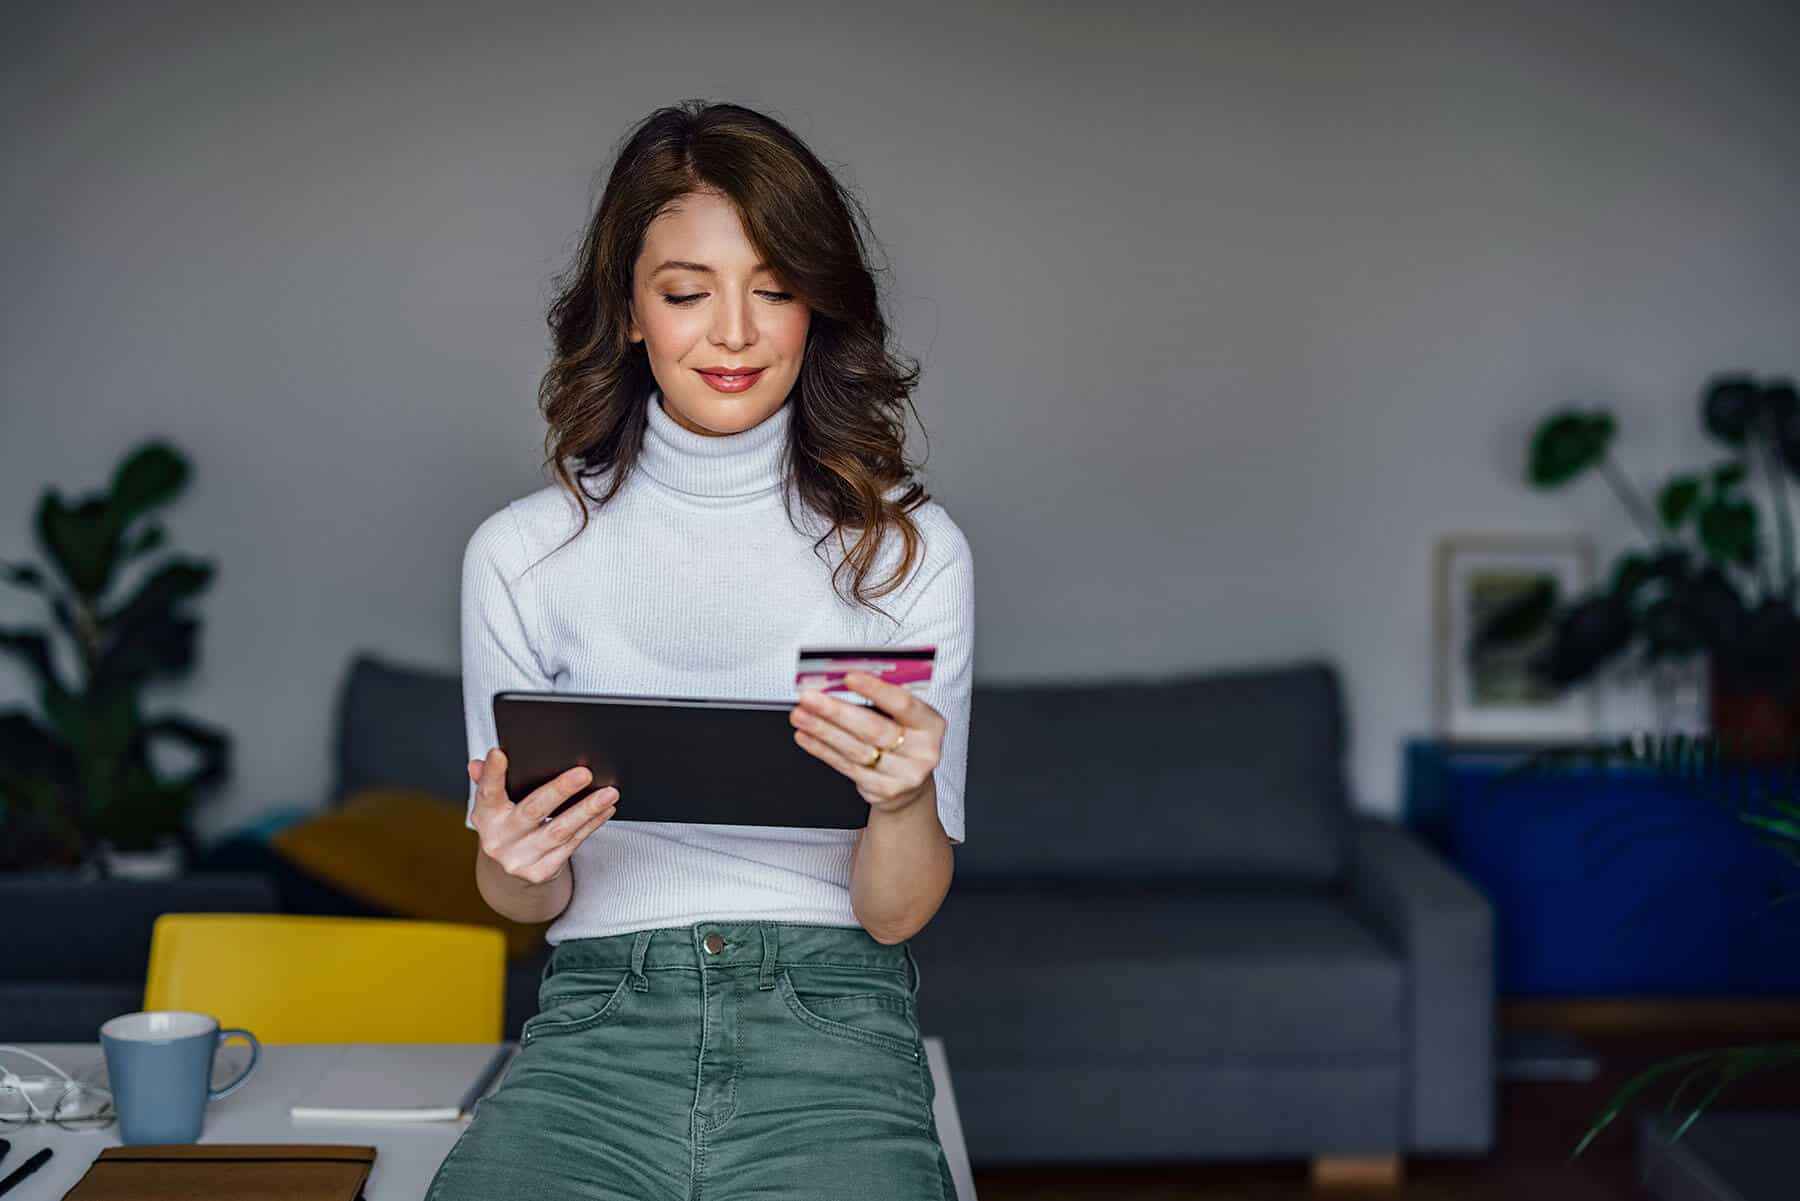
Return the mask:
[[[49,628],[0,628],[0,652],[36,679],[38,713],[0,711],[0,868],[104,862],[171,841],[191,850],[187,817],[223,781],[230,742],[191,718],[146,715],[144,690],[194,664],[200,621],[182,605],[212,580],[207,560],[171,556],[112,600],[124,569],[164,544],[148,520],[187,483],[185,459],[164,441],[128,454],[104,490],[67,504],[40,495],[34,533],[49,571],[0,564],[0,578],[36,592],[72,646],[72,681],[56,663]],[[185,771],[158,771],[151,745],[180,744]]]

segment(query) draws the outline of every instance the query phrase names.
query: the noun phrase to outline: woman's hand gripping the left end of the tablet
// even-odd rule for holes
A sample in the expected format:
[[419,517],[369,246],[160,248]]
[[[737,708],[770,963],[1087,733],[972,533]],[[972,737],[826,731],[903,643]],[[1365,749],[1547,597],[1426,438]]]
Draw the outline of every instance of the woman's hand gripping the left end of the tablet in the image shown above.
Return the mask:
[[481,853],[522,884],[547,884],[562,875],[574,848],[607,825],[619,805],[619,790],[607,785],[545,823],[544,817],[585,789],[594,774],[587,767],[571,767],[515,805],[506,796],[506,753],[500,747],[488,751],[486,760],[470,760],[468,778],[475,781],[470,821],[481,834]]

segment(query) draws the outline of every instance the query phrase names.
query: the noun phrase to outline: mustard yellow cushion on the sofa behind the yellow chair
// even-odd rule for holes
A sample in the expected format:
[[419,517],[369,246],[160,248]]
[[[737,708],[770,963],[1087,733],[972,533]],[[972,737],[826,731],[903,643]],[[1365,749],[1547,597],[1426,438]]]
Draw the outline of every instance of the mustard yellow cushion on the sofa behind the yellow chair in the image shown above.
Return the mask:
[[544,947],[547,922],[524,926],[475,888],[477,835],[463,807],[416,789],[365,789],[270,839],[290,862],[351,897],[409,918],[493,926],[506,954]]

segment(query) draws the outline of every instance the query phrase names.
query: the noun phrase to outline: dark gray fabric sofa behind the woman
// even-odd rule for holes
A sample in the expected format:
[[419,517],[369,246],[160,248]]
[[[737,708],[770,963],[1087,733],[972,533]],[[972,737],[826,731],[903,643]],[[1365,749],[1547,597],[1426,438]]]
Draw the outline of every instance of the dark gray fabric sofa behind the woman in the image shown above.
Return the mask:
[[[358,655],[329,796],[463,798],[463,740],[455,673]],[[968,839],[913,951],[974,1163],[1492,1145],[1490,909],[1354,817],[1330,666],[977,682],[968,745]],[[509,1032],[540,972],[508,967]]]

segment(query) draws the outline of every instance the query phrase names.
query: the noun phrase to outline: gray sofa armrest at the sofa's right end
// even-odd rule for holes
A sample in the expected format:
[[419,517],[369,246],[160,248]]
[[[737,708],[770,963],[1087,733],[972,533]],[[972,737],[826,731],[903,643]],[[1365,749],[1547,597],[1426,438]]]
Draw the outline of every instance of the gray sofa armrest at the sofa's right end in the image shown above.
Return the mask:
[[1413,1151],[1494,1145],[1494,911],[1413,834],[1359,823],[1348,902],[1406,960]]

